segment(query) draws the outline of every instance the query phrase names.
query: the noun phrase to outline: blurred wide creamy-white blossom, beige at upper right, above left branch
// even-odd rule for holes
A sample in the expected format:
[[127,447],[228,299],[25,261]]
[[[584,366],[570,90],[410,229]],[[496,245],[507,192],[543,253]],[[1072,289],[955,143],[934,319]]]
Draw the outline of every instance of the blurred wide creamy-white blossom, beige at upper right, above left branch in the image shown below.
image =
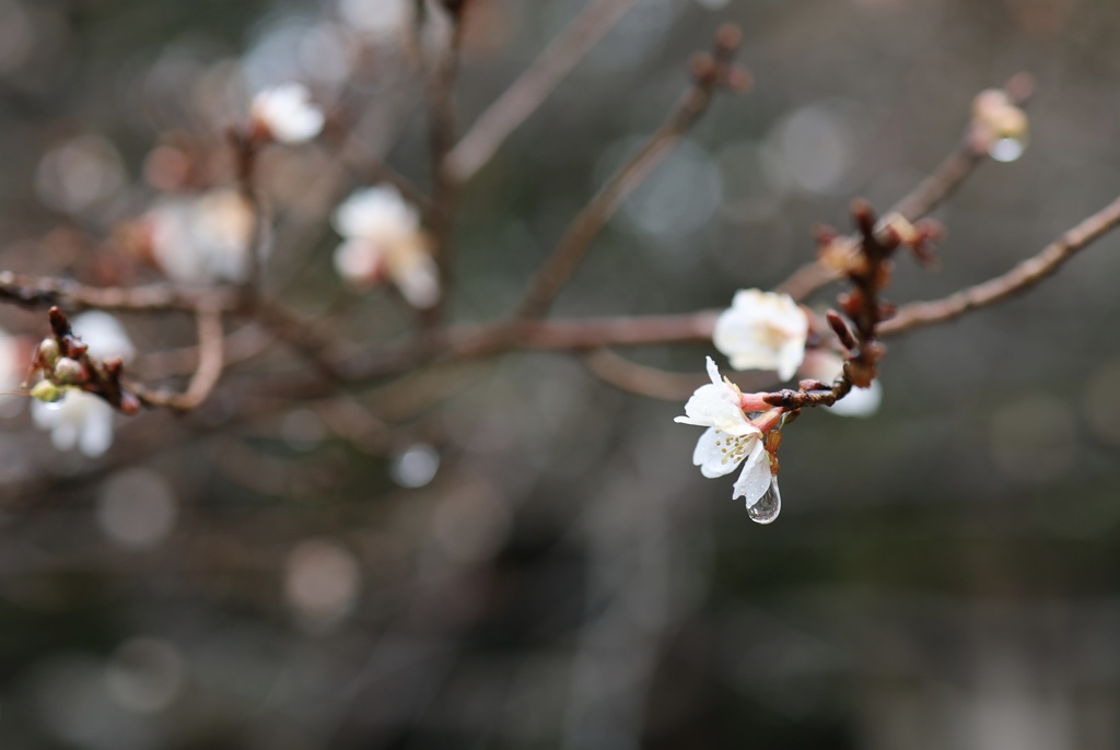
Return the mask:
[[236,190],[168,198],[143,221],[152,260],[171,281],[239,282],[249,273],[253,209]]

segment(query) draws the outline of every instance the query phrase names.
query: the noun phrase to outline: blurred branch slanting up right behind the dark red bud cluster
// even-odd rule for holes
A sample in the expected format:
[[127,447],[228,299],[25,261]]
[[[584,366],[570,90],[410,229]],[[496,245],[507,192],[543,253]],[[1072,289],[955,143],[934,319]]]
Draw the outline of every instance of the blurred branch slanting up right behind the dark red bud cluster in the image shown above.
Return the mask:
[[[1026,73],[1016,74],[1005,84],[1002,91],[1014,104],[1026,104],[1034,93],[1034,79]],[[900,214],[907,221],[915,222],[952,196],[977,167],[989,159],[990,143],[977,138],[976,131],[974,120],[970,121],[956,148],[885,215]],[[856,242],[858,238],[851,237],[851,240]],[[775,288],[775,291],[785,292],[795,300],[803,300],[821,287],[840,278],[841,274],[836,269],[827,268],[819,260],[814,260],[794,271]]]

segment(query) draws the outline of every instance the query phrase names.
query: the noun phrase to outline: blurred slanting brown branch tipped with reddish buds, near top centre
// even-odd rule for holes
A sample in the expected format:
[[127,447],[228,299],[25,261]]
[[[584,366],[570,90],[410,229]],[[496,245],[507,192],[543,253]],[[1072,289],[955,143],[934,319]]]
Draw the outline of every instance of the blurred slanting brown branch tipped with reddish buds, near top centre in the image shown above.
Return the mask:
[[[541,318],[548,313],[552,300],[575,273],[587,254],[591,241],[607,221],[614,216],[623,200],[633,193],[648,174],[681,140],[685,132],[707,111],[719,85],[731,82],[730,60],[739,47],[738,29],[725,26],[716,36],[715,54],[696,66],[696,79],[681,103],[664,124],[638,149],[622,169],[614,174],[591,201],[576,216],[552,255],[529,282],[519,318]],[[737,72],[745,85],[745,72]]]

